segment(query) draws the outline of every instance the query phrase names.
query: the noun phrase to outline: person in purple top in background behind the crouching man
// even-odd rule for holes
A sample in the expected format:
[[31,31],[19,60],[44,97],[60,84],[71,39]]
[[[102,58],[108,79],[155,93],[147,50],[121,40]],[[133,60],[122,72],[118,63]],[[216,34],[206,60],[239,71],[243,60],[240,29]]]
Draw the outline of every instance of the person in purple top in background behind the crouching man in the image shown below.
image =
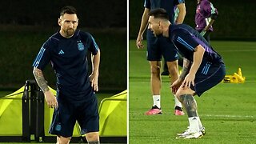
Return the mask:
[[213,24],[217,17],[218,10],[209,0],[198,0],[194,17],[195,30],[198,30],[208,42],[210,42],[210,33],[214,30]]

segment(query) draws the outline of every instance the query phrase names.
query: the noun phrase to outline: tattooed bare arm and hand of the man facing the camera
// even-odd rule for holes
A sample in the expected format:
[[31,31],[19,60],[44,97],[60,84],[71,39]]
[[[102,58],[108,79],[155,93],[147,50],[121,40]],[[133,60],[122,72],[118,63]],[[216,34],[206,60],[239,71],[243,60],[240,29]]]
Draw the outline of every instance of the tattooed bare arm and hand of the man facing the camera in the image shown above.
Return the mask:
[[51,93],[49,90],[46,80],[42,74],[42,70],[34,67],[33,70],[34,78],[38,82],[38,86],[41,88],[43,91],[43,94],[45,95],[47,105],[51,108],[57,108],[58,107],[58,102],[57,99],[55,98],[54,94]]

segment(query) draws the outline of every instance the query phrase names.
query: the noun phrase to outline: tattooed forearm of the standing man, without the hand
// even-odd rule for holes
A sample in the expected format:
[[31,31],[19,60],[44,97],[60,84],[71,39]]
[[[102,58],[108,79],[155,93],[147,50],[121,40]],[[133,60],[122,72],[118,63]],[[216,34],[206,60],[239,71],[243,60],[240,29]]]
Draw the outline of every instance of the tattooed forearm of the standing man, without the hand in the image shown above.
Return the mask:
[[43,92],[46,92],[49,90],[46,79],[43,77],[42,70],[39,70],[38,68],[34,67],[34,78],[38,82],[38,86],[41,88]]

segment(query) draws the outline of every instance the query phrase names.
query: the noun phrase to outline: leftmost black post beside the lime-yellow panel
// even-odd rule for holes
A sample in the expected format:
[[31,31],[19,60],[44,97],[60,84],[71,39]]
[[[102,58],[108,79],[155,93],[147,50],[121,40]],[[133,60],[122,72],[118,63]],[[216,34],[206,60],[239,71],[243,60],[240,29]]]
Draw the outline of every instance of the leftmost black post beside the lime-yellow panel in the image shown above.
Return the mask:
[[30,81],[26,81],[22,95],[22,141],[30,142]]

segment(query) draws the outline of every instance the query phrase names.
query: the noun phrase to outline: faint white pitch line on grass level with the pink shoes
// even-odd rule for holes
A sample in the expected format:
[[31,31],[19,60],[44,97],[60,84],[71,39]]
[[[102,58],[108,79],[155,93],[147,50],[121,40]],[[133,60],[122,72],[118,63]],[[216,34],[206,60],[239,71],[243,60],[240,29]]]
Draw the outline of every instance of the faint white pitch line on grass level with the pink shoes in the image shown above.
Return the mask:
[[[163,113],[165,115],[173,115],[173,113]],[[144,115],[138,113],[130,113],[130,115]],[[159,114],[162,115],[162,114]],[[216,117],[216,118],[256,118],[256,115],[218,115],[218,114],[199,114],[200,117]]]

